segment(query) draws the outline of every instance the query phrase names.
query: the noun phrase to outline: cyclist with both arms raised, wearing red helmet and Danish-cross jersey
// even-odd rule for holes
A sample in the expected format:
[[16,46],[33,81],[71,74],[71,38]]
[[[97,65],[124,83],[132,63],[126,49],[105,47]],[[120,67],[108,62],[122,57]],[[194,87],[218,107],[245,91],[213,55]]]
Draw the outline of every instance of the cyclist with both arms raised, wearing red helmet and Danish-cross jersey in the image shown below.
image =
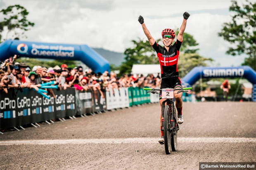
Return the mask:
[[[162,88],[180,88],[181,81],[179,78],[179,72],[178,72],[178,57],[180,53],[180,46],[183,41],[183,33],[185,31],[186,25],[187,25],[187,19],[190,17],[190,14],[187,12],[184,12],[183,14],[183,22],[180,26],[180,31],[177,36],[177,41],[172,45],[174,38],[175,38],[175,32],[170,29],[166,28],[162,31],[162,38],[164,47],[160,46],[156,43],[154,38],[149,33],[149,30],[147,29],[144,19],[142,16],[139,17],[138,21],[142,25],[142,29],[147,36],[147,39],[149,40],[150,45],[154,48],[154,50],[157,53],[157,57],[159,59],[159,64],[161,66],[161,89]],[[182,92],[179,94],[174,94],[175,97],[175,106],[178,111],[178,123],[183,123],[183,115],[182,115]],[[165,99],[162,99],[161,91],[159,94],[159,103],[162,107],[162,102]],[[162,114],[160,116],[160,125],[162,129]],[[161,130],[161,138],[159,139],[159,143],[164,143],[164,132]]]

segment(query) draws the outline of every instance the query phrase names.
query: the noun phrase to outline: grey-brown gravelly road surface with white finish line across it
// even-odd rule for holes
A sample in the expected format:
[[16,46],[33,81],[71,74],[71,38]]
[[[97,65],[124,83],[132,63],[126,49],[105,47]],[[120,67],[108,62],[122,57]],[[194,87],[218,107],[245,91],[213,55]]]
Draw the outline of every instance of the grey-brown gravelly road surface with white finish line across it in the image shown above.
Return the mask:
[[170,155],[157,143],[159,104],[149,104],[5,132],[0,169],[190,170],[199,162],[256,162],[255,103],[183,106],[178,151]]

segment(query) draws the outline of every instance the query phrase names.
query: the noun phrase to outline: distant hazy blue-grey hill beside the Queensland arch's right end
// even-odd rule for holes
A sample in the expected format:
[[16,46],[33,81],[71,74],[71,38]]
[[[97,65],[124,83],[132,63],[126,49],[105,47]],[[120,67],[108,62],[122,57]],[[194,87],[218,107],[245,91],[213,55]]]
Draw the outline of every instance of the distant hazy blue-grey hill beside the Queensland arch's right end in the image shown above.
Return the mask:
[[100,55],[102,55],[102,57],[107,59],[107,61],[109,61],[110,64],[120,66],[121,63],[125,61],[124,60],[125,55],[121,52],[113,52],[113,51],[105,50],[103,48],[92,48],[92,49],[95,50]]

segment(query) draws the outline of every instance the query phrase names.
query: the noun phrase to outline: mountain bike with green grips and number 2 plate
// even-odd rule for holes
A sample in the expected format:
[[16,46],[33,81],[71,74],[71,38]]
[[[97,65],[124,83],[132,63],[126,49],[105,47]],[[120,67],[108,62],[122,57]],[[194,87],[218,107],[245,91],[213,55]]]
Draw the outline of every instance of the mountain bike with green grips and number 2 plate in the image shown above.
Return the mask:
[[[179,125],[177,123],[176,109],[173,102],[174,91],[179,90],[176,94],[180,92],[188,92],[185,90],[190,90],[192,87],[178,88],[178,89],[154,89],[154,88],[144,88],[143,90],[150,90],[149,92],[153,94],[159,94],[156,91],[162,91],[162,99],[166,99],[162,103],[162,129],[164,131],[164,148],[166,154],[170,154],[172,151],[177,151],[177,136]],[[149,93],[147,92],[147,93]],[[164,107],[163,107],[164,106]]]

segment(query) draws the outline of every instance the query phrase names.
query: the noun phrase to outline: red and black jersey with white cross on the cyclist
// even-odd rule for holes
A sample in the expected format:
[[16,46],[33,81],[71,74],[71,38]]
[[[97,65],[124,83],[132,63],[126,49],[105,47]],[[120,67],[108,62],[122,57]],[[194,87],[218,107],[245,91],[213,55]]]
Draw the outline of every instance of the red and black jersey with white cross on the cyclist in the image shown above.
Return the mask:
[[161,66],[161,78],[178,77],[178,58],[180,54],[180,46],[182,42],[177,40],[169,47],[169,51],[165,47],[156,42],[152,47],[157,53],[159,64]]

